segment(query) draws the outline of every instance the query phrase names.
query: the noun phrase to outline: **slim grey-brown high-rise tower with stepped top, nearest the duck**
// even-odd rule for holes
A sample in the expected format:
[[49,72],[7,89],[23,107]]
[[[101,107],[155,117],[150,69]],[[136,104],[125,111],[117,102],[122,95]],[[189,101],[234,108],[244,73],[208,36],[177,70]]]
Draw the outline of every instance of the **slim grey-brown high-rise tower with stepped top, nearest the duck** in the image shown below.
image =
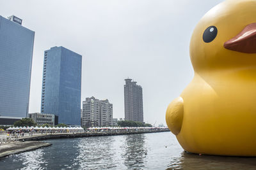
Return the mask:
[[125,120],[143,122],[142,88],[136,81],[125,79],[124,85],[124,111]]

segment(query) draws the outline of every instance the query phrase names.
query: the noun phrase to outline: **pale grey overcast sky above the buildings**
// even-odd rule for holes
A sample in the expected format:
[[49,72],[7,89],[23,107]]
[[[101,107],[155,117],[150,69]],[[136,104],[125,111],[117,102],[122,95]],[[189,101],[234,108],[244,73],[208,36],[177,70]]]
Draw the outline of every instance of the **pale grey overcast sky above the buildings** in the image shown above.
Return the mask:
[[44,50],[64,46],[83,55],[82,101],[109,99],[113,117],[124,118],[129,76],[143,88],[144,121],[165,124],[168,104],[193,78],[193,29],[220,2],[0,0],[0,15],[35,31],[29,113],[40,112]]

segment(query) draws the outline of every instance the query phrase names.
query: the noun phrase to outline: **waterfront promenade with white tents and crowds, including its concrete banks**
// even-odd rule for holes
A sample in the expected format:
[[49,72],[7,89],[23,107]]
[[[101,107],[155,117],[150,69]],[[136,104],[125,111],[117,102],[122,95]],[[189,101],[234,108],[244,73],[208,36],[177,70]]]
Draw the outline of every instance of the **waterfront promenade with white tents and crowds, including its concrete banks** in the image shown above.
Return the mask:
[[[29,128],[28,128],[29,129]],[[116,136],[129,134],[143,134],[154,132],[166,132],[168,128],[159,127],[91,127],[86,131],[37,131],[1,134],[0,136],[0,158],[15,153],[35,150],[37,148],[50,146],[51,143],[41,142],[45,139],[61,139],[61,138],[84,138],[93,136]]]

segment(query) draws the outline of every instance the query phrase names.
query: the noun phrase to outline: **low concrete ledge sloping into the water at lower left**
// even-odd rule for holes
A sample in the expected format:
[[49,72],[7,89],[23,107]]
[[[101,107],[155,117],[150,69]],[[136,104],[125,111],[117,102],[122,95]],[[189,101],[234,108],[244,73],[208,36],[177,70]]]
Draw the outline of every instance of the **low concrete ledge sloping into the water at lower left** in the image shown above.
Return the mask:
[[35,150],[45,146],[50,146],[51,143],[45,143],[40,141],[24,141],[13,142],[0,145],[0,158],[12,155],[15,153],[26,152],[29,150]]

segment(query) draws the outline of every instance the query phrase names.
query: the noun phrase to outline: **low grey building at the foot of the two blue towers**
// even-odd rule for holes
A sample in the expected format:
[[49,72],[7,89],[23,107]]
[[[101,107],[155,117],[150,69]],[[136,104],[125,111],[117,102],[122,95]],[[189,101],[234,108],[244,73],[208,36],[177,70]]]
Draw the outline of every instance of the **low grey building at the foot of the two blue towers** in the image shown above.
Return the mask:
[[47,113],[29,113],[29,118],[32,118],[37,125],[58,125],[58,116]]

